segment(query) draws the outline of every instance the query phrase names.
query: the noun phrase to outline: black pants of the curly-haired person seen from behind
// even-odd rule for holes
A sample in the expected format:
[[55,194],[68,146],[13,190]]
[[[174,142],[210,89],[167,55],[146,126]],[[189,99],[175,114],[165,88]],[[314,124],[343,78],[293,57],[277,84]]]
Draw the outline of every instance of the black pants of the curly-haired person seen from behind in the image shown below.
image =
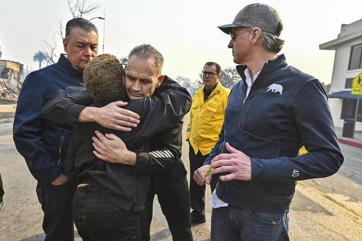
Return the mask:
[[139,241],[139,214],[123,210],[87,185],[77,189],[74,223],[83,241]]

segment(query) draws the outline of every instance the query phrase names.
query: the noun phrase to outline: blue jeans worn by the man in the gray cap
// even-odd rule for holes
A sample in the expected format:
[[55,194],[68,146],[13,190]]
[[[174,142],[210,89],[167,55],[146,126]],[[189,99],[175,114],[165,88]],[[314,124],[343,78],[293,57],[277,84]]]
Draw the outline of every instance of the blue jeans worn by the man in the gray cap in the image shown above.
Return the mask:
[[211,241],[289,240],[288,212],[270,214],[230,204],[212,208]]

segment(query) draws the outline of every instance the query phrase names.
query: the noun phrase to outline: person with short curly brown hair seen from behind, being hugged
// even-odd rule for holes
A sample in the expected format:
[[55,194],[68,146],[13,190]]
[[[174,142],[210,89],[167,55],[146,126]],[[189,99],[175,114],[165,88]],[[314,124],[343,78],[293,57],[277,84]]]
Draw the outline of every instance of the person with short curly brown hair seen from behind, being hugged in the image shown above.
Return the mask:
[[[84,85],[94,99],[90,106],[101,108],[116,100],[125,101],[124,77],[125,71],[115,56],[94,57],[83,73]],[[187,94],[185,97],[189,98]],[[169,95],[170,103],[173,99]],[[92,146],[94,132],[121,138],[127,149],[140,152],[149,148],[152,135],[172,128],[182,119],[175,114],[181,105],[172,109],[169,105],[165,115],[159,115],[164,111],[160,102],[142,98],[128,103],[123,108],[137,111],[140,116],[140,123],[130,132],[108,129],[96,122],[81,122],[73,127],[65,172],[71,181],[79,184],[73,201],[74,221],[84,240],[139,240],[139,213],[144,209],[150,186],[148,173],[136,173],[132,165],[97,158]]]

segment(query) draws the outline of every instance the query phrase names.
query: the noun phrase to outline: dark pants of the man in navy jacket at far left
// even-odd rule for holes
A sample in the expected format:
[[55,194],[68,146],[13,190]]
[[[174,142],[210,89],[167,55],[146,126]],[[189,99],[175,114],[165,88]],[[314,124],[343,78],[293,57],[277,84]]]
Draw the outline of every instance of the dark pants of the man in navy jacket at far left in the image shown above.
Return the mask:
[[37,185],[37,195],[44,212],[45,241],[73,241],[72,201],[77,186],[67,181],[62,185]]

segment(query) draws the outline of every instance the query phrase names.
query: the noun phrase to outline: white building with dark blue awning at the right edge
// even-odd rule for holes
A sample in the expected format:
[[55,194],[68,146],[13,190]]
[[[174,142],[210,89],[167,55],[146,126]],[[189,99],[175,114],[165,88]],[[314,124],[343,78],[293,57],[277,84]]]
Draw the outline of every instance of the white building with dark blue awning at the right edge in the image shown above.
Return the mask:
[[[362,19],[342,24],[336,39],[319,45],[334,50],[334,64],[328,102],[334,125],[343,127],[344,119],[354,119],[357,95],[351,94],[352,80],[362,72]],[[355,130],[362,131],[362,96],[359,98]]]

